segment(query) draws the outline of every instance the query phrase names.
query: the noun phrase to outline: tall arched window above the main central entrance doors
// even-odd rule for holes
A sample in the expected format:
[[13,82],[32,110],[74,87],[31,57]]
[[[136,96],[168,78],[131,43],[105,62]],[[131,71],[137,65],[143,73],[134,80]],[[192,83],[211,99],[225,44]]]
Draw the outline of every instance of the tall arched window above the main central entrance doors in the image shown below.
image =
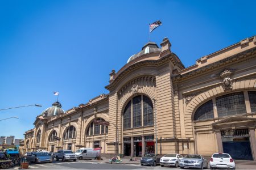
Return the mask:
[[[142,120],[143,117],[143,120]],[[133,120],[133,127],[131,127]],[[154,114],[152,101],[143,95],[135,96],[125,106],[123,112],[123,129],[153,125]]]

